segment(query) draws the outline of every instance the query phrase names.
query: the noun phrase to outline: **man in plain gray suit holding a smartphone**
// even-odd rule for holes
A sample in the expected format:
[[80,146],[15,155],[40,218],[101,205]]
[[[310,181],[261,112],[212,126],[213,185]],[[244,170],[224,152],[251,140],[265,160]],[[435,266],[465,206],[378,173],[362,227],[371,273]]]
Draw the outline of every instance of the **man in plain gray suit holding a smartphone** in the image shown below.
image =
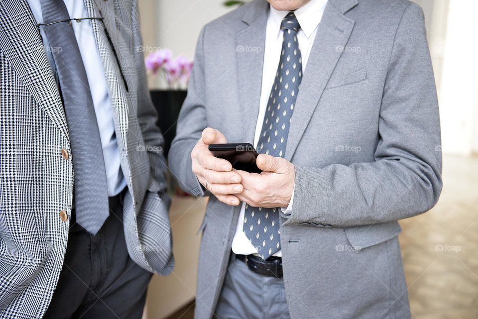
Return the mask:
[[[211,143],[253,143],[261,174]],[[397,220],[441,182],[421,8],[253,0],[207,24],[170,151],[210,195],[197,319],[410,318]]]

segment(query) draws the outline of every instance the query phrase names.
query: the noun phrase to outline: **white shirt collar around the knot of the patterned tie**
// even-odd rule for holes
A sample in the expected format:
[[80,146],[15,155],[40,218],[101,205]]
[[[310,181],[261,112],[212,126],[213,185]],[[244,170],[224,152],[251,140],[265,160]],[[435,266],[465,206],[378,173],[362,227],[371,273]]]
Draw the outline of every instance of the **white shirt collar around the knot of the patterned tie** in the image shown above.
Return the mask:
[[[310,38],[315,28],[319,25],[324,13],[327,0],[310,0],[300,8],[294,11],[297,20],[299,21],[300,28],[304,31],[305,36]],[[269,5],[270,12],[269,18],[272,19],[274,27],[280,33],[280,24],[282,19],[289,13],[289,11],[279,11]]]

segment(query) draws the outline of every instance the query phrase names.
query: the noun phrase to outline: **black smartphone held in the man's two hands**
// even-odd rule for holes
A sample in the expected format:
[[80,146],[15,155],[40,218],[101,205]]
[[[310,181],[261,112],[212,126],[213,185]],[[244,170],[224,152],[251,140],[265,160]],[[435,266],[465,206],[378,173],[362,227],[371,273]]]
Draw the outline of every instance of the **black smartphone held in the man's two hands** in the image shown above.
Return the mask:
[[211,144],[209,150],[214,156],[229,161],[237,170],[249,173],[262,172],[255,163],[259,154],[250,143]]

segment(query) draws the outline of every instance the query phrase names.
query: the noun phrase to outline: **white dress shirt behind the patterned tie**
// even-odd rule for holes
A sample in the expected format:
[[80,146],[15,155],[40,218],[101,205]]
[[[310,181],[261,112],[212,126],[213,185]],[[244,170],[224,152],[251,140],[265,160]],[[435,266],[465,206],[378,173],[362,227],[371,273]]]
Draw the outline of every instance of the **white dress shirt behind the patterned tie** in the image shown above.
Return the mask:
[[[327,0],[311,0],[305,5],[294,11],[295,16],[300,24],[300,30],[297,32],[297,39],[299,41],[299,49],[302,57],[302,72],[305,72],[305,66],[309,59],[309,53],[314,43],[315,35],[317,33],[317,26],[322,19]],[[259,114],[257,116],[257,123],[255,126],[254,147],[257,147],[260,132],[262,130],[262,122],[264,120],[267,102],[269,101],[270,90],[274,84],[275,74],[280,60],[280,52],[282,50],[283,31],[280,29],[282,19],[289,13],[289,11],[279,11],[269,6],[269,15],[267,17],[267,27],[265,33],[265,48],[264,48],[264,64],[262,68],[262,86],[259,100]],[[299,91],[300,94],[300,91]],[[292,115],[293,116],[293,115]],[[294,194],[290,200],[289,206],[282,209],[283,213],[292,212]],[[257,254],[255,247],[249,242],[245,233],[242,230],[244,224],[245,203],[239,213],[238,226],[233,238],[232,250],[238,255]],[[277,251],[274,256],[282,256],[282,251]]]

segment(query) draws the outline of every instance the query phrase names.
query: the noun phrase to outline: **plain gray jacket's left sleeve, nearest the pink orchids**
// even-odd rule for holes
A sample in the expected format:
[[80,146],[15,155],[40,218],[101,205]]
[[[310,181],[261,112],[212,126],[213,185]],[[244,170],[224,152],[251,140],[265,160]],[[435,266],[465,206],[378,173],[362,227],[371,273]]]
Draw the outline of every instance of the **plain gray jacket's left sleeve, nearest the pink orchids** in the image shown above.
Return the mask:
[[204,28],[199,35],[194,66],[188,84],[188,94],[179,113],[176,137],[169,150],[169,167],[181,188],[195,196],[204,190],[191,170],[191,151],[207,127],[205,109],[205,72],[203,55]]

